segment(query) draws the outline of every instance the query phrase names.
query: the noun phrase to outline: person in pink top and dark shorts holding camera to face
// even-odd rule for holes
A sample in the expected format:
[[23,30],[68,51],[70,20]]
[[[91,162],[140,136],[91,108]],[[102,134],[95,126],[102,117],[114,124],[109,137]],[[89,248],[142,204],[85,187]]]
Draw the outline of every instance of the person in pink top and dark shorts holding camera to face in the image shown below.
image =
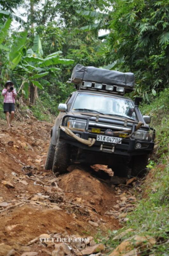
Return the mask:
[[[13,126],[11,125],[11,122],[15,114],[15,97],[17,95],[11,81],[6,82],[5,88],[2,91],[2,95],[4,96],[4,113],[6,115],[6,121],[8,127],[11,127]],[[11,118],[9,117],[10,114]]]

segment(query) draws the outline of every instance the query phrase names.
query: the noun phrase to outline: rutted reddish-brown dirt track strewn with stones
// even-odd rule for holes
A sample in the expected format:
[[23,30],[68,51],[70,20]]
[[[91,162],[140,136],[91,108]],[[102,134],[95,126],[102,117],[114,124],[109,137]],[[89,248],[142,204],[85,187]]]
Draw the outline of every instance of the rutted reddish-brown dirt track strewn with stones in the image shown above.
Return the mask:
[[54,255],[55,243],[41,242],[42,234],[90,237],[88,245],[72,244],[70,255],[82,255],[95,245],[91,237],[123,225],[137,204],[132,185],[107,184],[76,167],[56,177],[44,170],[52,124],[0,122],[0,255]]

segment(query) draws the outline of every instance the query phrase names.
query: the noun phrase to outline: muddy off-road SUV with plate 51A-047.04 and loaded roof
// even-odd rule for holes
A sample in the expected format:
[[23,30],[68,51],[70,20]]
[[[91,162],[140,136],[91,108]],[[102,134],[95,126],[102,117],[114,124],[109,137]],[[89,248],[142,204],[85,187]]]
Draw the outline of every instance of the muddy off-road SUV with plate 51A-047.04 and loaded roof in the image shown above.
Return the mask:
[[70,82],[76,91],[51,131],[45,169],[64,173],[73,163],[106,164],[116,176],[142,176],[154,147],[149,116],[124,97],[134,87],[134,75],[77,65]]

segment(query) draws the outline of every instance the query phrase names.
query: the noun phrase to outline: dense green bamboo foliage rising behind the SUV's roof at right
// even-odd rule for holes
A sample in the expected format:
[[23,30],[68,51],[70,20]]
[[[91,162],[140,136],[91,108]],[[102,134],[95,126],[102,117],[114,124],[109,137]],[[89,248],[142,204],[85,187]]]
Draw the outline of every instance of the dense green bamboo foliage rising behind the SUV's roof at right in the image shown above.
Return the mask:
[[152,99],[168,86],[169,59],[168,1],[116,0],[109,20],[105,55],[116,69],[134,72],[133,94]]

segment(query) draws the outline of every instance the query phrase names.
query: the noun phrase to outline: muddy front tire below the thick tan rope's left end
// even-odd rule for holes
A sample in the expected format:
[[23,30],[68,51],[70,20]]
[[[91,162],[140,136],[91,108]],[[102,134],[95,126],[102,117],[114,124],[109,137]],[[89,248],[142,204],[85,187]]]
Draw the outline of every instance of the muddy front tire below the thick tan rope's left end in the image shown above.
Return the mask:
[[58,140],[55,148],[52,171],[54,173],[59,172],[60,174],[67,172],[69,160],[69,145],[64,141]]

